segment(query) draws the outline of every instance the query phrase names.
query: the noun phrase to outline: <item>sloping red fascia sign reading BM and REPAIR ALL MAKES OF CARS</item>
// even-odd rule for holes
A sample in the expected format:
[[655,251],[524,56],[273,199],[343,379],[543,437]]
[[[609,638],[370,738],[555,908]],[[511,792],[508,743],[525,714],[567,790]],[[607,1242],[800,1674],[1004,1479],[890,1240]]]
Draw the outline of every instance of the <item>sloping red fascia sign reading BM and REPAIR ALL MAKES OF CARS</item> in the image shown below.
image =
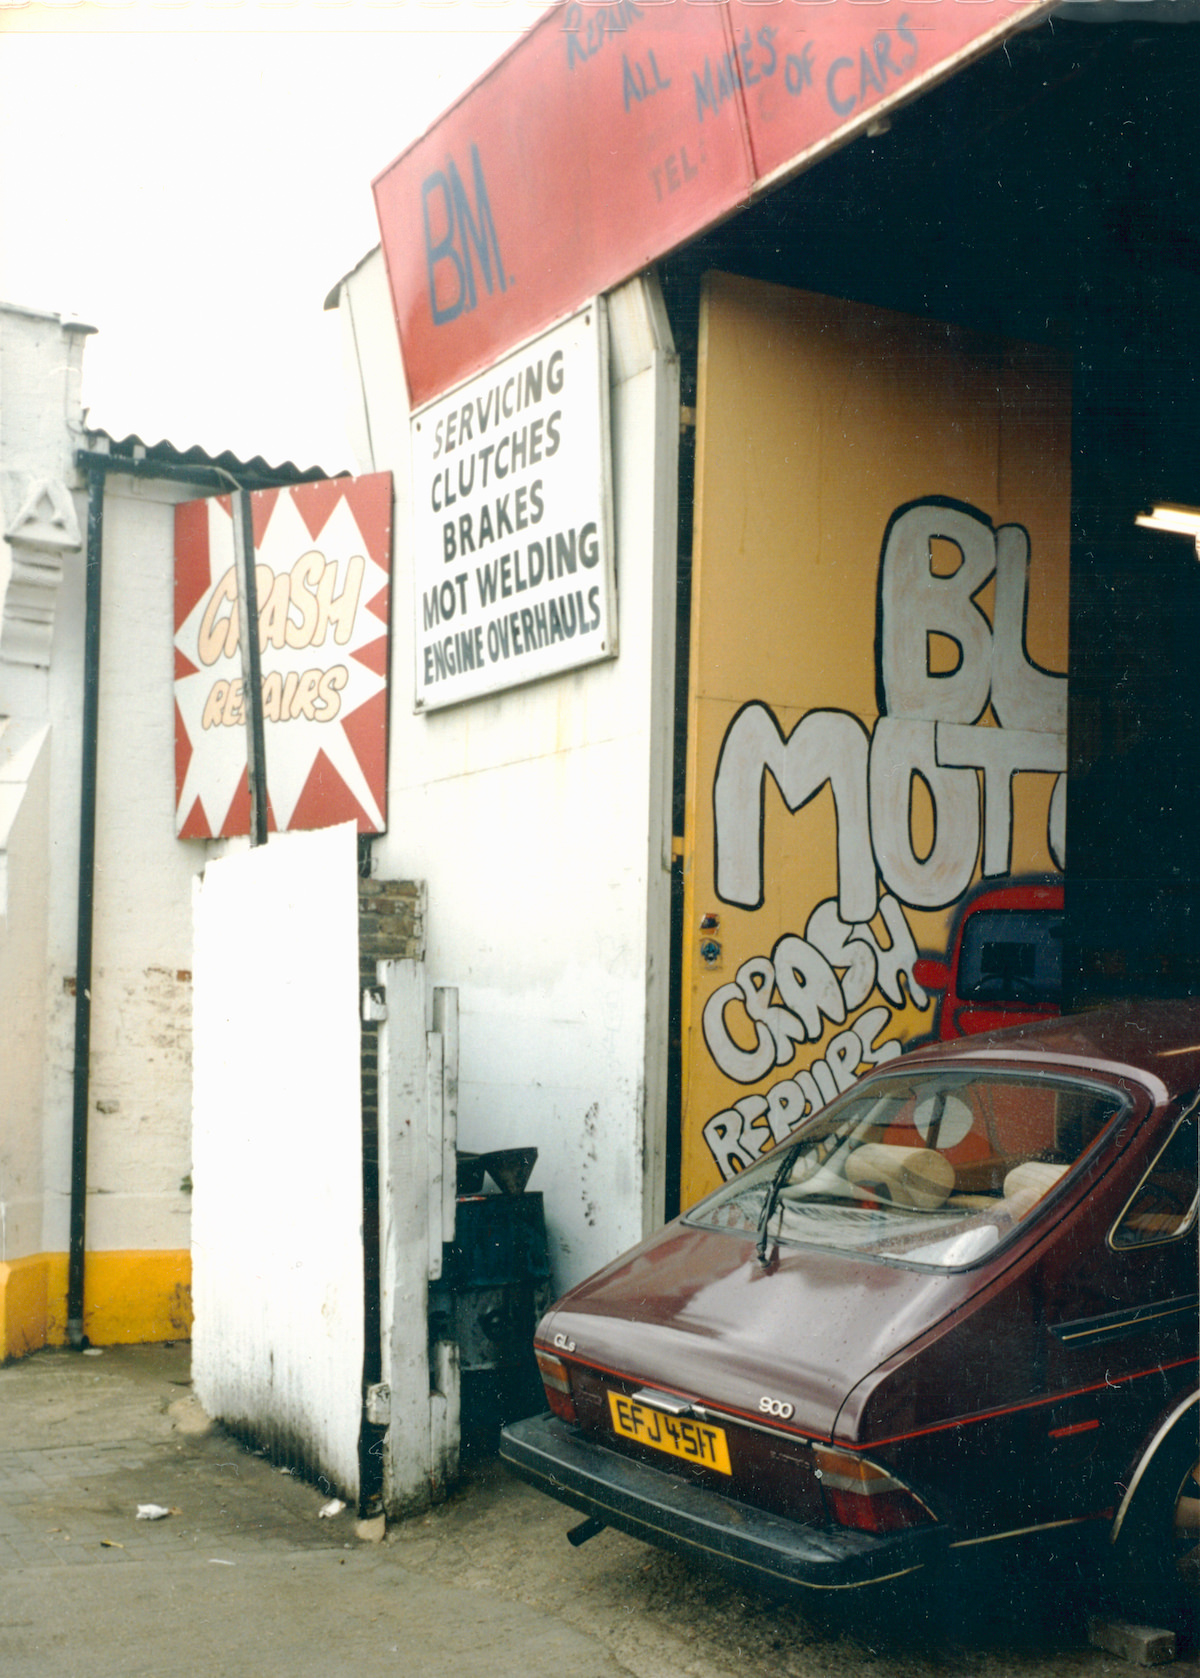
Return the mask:
[[567,0],[374,183],[415,406],[1051,0]]

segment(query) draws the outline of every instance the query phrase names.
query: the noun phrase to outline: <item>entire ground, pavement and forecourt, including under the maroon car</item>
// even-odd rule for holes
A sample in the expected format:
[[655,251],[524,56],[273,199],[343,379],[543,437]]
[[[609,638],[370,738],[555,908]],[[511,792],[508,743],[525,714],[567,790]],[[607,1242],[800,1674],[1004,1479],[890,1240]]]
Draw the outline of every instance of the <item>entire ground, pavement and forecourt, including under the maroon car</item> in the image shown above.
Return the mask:
[[[819,1614],[604,1532],[482,1463],[386,1542],[190,1396],[188,1347],[0,1369],[0,1678],[1119,1678],[1086,1602]],[[203,1431],[196,1431],[196,1430]],[[171,1510],[136,1519],[139,1503]],[[1200,1678],[1193,1656],[1180,1678]]]

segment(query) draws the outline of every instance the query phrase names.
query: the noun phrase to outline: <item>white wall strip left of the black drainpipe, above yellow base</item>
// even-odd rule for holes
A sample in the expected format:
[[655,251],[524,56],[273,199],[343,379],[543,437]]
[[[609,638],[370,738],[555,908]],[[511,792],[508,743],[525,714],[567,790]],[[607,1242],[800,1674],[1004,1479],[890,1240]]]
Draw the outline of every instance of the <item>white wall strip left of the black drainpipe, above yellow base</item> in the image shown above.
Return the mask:
[[[79,732],[82,624],[82,510],[74,500],[74,542],[67,540],[59,567],[49,564],[42,587],[18,576],[20,550],[7,534],[20,515],[30,487],[47,482],[69,495],[76,483],[72,450],[79,430],[79,379],[84,334],[57,315],[0,307],[0,503],[5,540],[0,542],[0,750],[8,757],[5,799],[5,896],[0,923],[0,1017],[5,1020],[3,1081],[0,1082],[0,1201],[7,1205],[3,1258],[20,1258],[49,1247],[50,1227],[60,1227],[65,1248],[65,1210],[47,1217],[69,1191],[67,1146],[59,1144],[62,1114],[55,1111],[55,1071],[64,1059],[60,1015],[74,1010],[64,978],[74,972],[55,925],[72,913],[79,824],[79,755],[69,740]],[[49,557],[49,555],[47,555]],[[17,576],[15,576],[17,574]],[[40,740],[35,758],[29,743]],[[8,753],[5,753],[8,755]],[[65,1037],[67,1064],[70,1037]],[[62,1159],[67,1175],[60,1175]],[[59,1173],[55,1176],[55,1173]],[[64,1200],[65,1205],[65,1200]]]

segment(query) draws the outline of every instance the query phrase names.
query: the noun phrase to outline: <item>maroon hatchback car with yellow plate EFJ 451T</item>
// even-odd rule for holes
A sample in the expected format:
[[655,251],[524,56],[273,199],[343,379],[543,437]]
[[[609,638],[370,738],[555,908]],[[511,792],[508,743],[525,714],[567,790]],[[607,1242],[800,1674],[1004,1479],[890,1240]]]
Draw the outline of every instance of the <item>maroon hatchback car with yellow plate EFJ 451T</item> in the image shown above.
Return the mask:
[[502,1455],[767,1587],[1091,1535],[1195,1566],[1200,1005],[938,1044],[572,1289]]

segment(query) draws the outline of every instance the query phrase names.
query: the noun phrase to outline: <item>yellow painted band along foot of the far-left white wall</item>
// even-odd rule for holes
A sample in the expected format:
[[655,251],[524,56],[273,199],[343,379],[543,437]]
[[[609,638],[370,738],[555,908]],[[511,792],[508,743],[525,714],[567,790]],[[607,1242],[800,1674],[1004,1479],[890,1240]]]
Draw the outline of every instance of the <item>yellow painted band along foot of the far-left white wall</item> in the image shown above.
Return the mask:
[[[191,1253],[87,1253],[84,1336],[92,1346],[138,1346],[191,1336]],[[0,1264],[0,1363],[67,1344],[67,1255]]]

